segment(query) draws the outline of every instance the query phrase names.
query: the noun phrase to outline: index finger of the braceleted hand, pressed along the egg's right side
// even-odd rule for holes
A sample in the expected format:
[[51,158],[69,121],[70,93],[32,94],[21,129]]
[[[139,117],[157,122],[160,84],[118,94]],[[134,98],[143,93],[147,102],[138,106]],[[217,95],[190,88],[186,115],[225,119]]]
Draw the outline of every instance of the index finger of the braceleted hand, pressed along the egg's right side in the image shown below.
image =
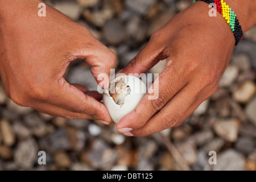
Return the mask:
[[[168,62],[166,69],[156,78],[135,110],[119,121],[117,125],[118,131],[126,127],[131,129],[143,127],[148,119],[162,109],[187,84],[187,79],[182,78],[184,75],[183,69],[179,69],[176,65],[172,64],[172,60]],[[150,93],[152,88],[154,88],[155,98]]]

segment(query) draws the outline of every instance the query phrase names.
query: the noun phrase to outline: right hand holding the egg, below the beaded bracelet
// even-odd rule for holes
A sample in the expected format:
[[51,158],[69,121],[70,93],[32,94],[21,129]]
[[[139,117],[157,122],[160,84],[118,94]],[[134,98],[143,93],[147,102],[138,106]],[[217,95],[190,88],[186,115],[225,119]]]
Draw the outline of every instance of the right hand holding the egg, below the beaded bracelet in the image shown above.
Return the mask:
[[217,89],[235,44],[228,23],[217,13],[208,16],[208,5],[196,2],[177,14],[152,35],[148,44],[123,69],[145,73],[167,59],[158,82],[158,98],[146,94],[134,111],[119,121],[117,130],[143,137],[179,126]]

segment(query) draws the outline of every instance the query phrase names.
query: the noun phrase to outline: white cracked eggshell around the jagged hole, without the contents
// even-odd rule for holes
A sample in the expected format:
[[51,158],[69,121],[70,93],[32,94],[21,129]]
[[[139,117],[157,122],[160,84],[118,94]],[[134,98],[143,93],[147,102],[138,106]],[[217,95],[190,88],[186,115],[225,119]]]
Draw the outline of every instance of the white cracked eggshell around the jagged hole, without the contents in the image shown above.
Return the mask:
[[130,94],[125,97],[123,104],[115,104],[108,90],[105,90],[103,95],[103,104],[107,107],[110,117],[115,123],[118,123],[125,115],[133,111],[147,92],[144,82],[135,76],[119,76],[112,82],[119,80],[121,77],[125,78],[125,84],[130,86]]

